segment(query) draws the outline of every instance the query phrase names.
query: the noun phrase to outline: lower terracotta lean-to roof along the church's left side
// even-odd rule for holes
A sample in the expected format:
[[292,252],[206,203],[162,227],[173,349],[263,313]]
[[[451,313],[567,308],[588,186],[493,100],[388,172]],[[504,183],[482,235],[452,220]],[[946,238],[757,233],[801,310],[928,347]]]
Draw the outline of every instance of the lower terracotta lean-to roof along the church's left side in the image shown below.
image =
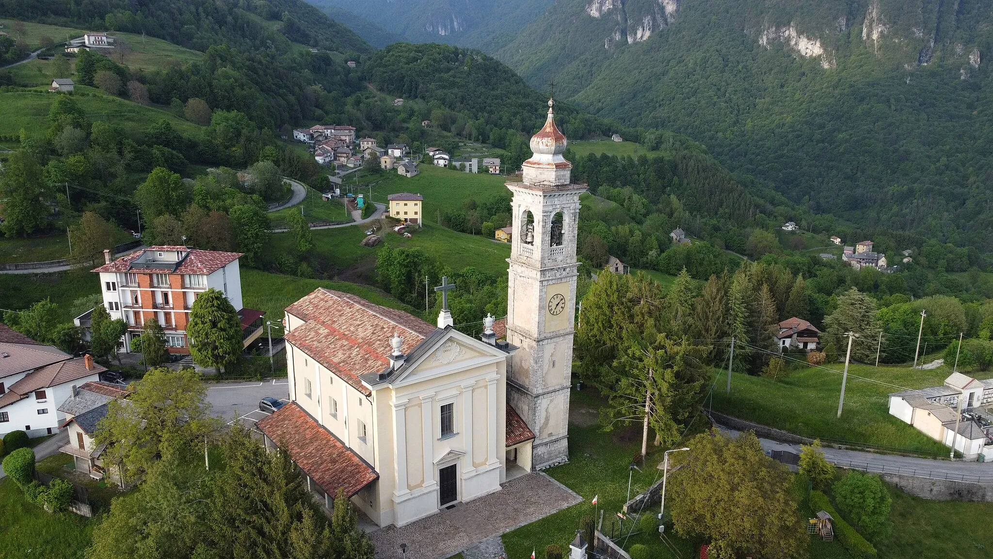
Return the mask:
[[372,466],[321,427],[296,402],[286,404],[255,425],[331,495],[338,494],[341,488],[351,497],[379,478]]

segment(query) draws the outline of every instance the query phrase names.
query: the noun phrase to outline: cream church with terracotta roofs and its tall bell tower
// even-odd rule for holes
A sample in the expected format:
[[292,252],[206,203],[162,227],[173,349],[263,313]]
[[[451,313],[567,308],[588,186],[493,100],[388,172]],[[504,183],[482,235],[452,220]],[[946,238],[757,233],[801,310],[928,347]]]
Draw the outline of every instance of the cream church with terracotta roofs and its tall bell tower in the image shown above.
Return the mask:
[[286,308],[290,402],[258,422],[326,505],[339,489],[379,526],[403,526],[568,461],[579,196],[548,118],[521,182],[505,322],[453,327],[443,279],[432,325],[318,288]]

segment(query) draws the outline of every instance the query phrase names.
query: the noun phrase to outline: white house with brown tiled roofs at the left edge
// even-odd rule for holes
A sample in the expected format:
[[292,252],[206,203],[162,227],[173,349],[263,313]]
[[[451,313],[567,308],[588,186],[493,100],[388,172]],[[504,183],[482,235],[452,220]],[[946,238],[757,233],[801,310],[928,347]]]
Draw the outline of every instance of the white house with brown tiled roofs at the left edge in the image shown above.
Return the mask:
[[58,404],[73,385],[97,381],[103,371],[89,355],[72,357],[0,324],[0,437],[58,433],[65,420]]

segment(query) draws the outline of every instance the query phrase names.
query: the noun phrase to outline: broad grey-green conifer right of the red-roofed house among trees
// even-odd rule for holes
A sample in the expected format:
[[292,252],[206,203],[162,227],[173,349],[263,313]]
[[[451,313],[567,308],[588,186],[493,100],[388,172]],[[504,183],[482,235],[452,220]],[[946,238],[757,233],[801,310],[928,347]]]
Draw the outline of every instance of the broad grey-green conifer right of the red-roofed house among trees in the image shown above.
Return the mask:
[[845,291],[838,297],[838,308],[824,318],[827,344],[833,345],[844,358],[848,349],[845,332],[855,332],[858,337],[852,342],[852,359],[872,362],[876,358],[876,342],[881,331],[876,311],[876,299],[856,287]]

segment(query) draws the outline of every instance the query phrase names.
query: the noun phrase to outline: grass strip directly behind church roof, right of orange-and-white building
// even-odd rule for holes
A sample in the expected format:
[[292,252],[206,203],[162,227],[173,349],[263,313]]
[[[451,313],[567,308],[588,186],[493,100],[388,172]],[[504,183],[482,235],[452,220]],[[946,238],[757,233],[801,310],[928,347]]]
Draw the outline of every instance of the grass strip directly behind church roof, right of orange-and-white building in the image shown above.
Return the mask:
[[347,281],[308,280],[296,276],[269,274],[251,268],[241,269],[241,295],[244,305],[248,308],[264,310],[266,320],[281,321],[283,310],[287,306],[318,287],[352,293],[382,306],[411,313],[417,312],[383,291],[368,285],[358,285]]

